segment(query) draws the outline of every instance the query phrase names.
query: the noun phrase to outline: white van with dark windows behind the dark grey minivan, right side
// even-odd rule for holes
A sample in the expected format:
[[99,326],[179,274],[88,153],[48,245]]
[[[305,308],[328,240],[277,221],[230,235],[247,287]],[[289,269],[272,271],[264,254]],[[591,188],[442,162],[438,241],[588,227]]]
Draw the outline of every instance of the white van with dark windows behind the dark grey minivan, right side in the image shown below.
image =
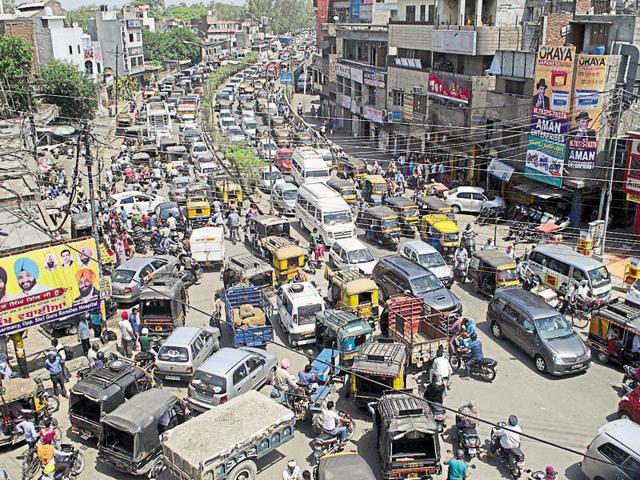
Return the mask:
[[540,282],[559,292],[586,280],[594,296],[609,300],[611,274],[607,267],[564,245],[541,245],[529,257],[529,268]]

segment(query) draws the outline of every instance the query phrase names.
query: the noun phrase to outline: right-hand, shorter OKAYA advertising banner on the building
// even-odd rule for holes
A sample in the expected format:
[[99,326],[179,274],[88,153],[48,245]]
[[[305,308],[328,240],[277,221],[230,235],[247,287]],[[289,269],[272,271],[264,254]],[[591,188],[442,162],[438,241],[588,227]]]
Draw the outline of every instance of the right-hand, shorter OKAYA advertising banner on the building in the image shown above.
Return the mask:
[[567,158],[569,168],[593,170],[596,166],[608,58],[607,55],[576,56],[574,109]]

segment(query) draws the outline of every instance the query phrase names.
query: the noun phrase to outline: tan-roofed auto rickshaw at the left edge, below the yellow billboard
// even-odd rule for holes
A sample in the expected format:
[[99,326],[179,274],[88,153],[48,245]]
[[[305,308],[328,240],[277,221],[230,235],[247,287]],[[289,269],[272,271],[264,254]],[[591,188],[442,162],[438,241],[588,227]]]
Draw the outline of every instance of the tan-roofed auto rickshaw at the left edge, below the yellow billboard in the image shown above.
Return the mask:
[[[44,425],[44,420],[58,411],[60,403],[56,397],[48,396],[42,383],[31,378],[10,378],[2,381],[0,387],[0,446],[15,445],[24,441],[24,433],[16,429],[18,418],[29,413],[36,428]],[[54,419],[54,424],[57,422]]]

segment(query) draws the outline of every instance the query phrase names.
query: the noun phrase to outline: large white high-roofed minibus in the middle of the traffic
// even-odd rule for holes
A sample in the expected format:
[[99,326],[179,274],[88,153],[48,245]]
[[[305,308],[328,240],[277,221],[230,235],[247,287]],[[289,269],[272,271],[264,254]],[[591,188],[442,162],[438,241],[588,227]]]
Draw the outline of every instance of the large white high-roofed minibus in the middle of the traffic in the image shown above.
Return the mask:
[[357,235],[349,205],[324,183],[305,183],[298,189],[296,218],[310,232],[317,228],[327,246]]

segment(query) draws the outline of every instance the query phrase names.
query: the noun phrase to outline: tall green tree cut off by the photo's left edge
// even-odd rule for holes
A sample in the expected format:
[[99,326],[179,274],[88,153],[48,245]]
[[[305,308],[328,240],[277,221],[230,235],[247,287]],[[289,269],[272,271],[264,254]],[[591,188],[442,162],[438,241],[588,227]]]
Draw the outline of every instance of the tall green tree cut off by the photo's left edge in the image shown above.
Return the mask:
[[31,46],[27,42],[11,35],[0,36],[0,85],[9,105],[16,110],[29,107],[33,93],[28,78],[31,61]]

